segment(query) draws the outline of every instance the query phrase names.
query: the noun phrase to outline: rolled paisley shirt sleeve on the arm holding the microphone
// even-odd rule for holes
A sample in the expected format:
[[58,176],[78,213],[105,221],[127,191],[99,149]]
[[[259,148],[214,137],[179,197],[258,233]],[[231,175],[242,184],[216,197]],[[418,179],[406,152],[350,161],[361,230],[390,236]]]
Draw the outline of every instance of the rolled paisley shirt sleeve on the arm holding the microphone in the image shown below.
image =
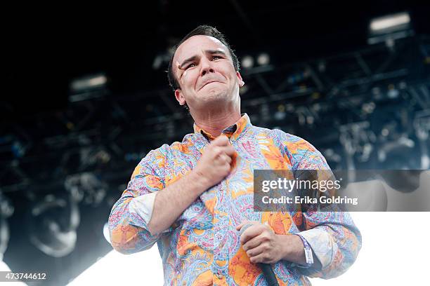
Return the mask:
[[[303,140],[303,139],[302,139]],[[322,174],[332,174],[325,158],[305,140],[297,147],[293,158],[293,170],[325,170]],[[303,224],[300,234],[311,246],[321,263],[321,268],[298,268],[301,273],[312,278],[335,278],[356,261],[361,248],[361,233],[348,212],[306,210],[302,213]]]

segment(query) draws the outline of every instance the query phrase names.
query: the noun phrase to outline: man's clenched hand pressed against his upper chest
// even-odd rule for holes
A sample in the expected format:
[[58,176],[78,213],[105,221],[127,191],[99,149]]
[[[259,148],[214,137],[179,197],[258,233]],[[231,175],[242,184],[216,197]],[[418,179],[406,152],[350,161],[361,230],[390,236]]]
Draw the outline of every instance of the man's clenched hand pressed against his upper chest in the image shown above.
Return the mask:
[[204,149],[202,158],[197,162],[193,172],[202,179],[206,189],[209,189],[219,184],[230,173],[234,155],[235,149],[228,141],[228,137],[220,135]]

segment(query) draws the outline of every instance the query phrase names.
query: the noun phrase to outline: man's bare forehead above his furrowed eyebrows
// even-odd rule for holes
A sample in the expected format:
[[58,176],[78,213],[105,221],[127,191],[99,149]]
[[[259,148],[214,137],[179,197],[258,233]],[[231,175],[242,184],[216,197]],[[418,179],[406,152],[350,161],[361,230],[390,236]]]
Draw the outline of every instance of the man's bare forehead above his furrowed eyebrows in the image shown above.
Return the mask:
[[188,57],[197,55],[197,53],[200,53],[202,50],[222,50],[226,55],[230,55],[230,53],[228,53],[228,48],[221,43],[219,39],[213,36],[197,35],[191,36],[178,46],[174,55],[174,63],[181,63]]

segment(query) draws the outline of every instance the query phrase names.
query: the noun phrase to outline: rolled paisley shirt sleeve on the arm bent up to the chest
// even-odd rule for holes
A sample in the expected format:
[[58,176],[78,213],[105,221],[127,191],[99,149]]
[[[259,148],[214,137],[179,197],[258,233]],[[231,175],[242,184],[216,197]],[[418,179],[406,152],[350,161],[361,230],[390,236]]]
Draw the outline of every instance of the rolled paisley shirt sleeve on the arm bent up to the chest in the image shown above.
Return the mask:
[[127,189],[112,207],[109,216],[109,231],[112,247],[118,252],[131,254],[147,250],[172,228],[152,234],[148,223],[157,191],[164,189],[164,178],[159,175],[164,156],[159,151],[150,151],[137,165]]

